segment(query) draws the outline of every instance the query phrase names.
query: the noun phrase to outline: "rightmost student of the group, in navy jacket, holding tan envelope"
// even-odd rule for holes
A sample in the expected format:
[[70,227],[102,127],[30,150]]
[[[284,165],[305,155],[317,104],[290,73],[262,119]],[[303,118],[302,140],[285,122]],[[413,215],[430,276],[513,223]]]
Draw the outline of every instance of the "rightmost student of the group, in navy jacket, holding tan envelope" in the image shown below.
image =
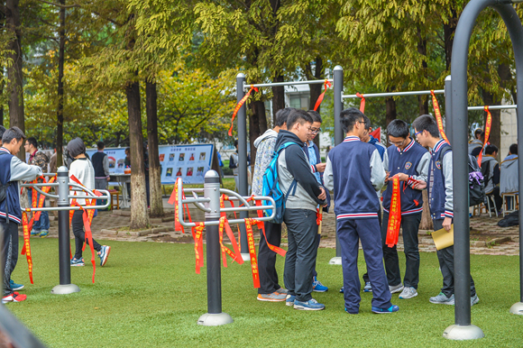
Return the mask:
[[[427,187],[434,230],[445,228],[446,231],[450,231],[454,217],[452,150],[448,150],[450,145],[447,142],[439,139],[434,117],[423,114],[414,120],[412,126],[416,132],[417,141],[422,146],[432,149],[427,182],[421,182],[417,188]],[[454,245],[438,250],[437,259],[443,275],[443,288],[429,301],[436,304],[454,305]],[[473,277],[471,277],[471,306],[479,301]]]

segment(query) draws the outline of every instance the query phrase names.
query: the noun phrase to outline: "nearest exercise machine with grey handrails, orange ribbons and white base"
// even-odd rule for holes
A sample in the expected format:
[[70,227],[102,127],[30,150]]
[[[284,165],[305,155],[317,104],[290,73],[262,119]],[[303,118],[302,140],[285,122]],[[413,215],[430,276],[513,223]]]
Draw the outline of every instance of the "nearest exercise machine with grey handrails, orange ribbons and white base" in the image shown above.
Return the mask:
[[[245,157],[243,158],[245,160]],[[245,162],[243,162],[246,164]],[[246,167],[244,167],[246,169]],[[245,176],[245,179],[247,177]],[[246,181],[244,181],[246,183]],[[246,188],[245,188],[246,190]],[[184,197],[184,193],[192,195],[192,197]],[[203,193],[203,197],[199,197],[198,193]],[[239,219],[229,220],[230,224],[241,224],[245,222],[245,218],[248,218],[250,211],[256,210],[267,210],[272,209],[271,216],[258,217],[257,221],[269,221],[272,220],[275,214],[274,200],[271,197],[243,197],[238,195],[236,192],[231,191],[230,189],[220,188],[220,177],[215,170],[208,170],[205,176],[204,188],[182,188],[181,179],[177,179],[176,188],[173,192],[174,195],[177,195],[177,199],[174,202],[175,204],[175,214],[178,212],[177,220],[179,224],[185,227],[196,227],[201,228],[197,234],[203,232],[203,226],[206,228],[206,263],[207,263],[207,313],[203,316],[200,316],[197,320],[198,325],[206,326],[216,326],[216,325],[225,325],[233,323],[233,318],[227,313],[222,312],[222,270],[220,262],[220,253],[224,254],[225,251],[221,248],[222,235],[220,234],[220,228],[224,228],[224,219],[221,218],[222,213],[234,213],[240,212],[243,213],[243,216]],[[220,207],[220,196],[222,194],[230,195],[229,200],[237,200],[242,206],[236,207]],[[268,201],[271,203],[271,206],[251,206],[249,201]],[[192,203],[197,206],[198,209],[205,212],[206,221],[205,223],[194,223],[194,222],[185,222],[183,208],[184,204]],[[187,206],[188,210],[188,206]],[[244,226],[243,226],[244,227]],[[243,230],[245,231],[245,230]],[[248,243],[247,234],[245,233],[244,237],[241,237],[242,242],[245,241],[247,245],[246,248],[254,248],[254,242]],[[232,241],[233,242],[233,241]],[[234,241],[235,243],[235,241]],[[251,244],[251,245],[249,245]],[[201,246],[201,242],[195,237],[195,251]],[[222,250],[220,250],[222,249]],[[243,249],[242,249],[243,251]],[[247,251],[248,252],[248,251]],[[252,250],[251,250],[252,252]],[[247,256],[250,254],[247,253]],[[238,257],[240,255],[237,255]],[[201,261],[203,264],[203,255],[197,256],[197,262]],[[239,261],[242,261],[240,259]],[[251,258],[251,261],[252,258]],[[254,266],[252,265],[252,271],[254,273]],[[256,270],[257,271],[257,270]]]

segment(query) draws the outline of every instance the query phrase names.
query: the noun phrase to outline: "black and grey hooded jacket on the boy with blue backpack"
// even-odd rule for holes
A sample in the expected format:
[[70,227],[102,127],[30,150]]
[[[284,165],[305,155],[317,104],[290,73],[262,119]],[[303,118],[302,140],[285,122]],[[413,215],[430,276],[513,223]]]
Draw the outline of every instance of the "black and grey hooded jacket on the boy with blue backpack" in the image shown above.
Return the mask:
[[326,201],[317,198],[321,195],[321,189],[302,149],[303,142],[294,133],[280,131],[274,149],[280,149],[280,146],[286,142],[294,142],[297,145],[290,145],[281,151],[278,157],[278,180],[283,194],[287,195],[292,181],[297,181],[295,192],[289,194],[286,208],[308,209],[316,212],[317,205],[324,206]]

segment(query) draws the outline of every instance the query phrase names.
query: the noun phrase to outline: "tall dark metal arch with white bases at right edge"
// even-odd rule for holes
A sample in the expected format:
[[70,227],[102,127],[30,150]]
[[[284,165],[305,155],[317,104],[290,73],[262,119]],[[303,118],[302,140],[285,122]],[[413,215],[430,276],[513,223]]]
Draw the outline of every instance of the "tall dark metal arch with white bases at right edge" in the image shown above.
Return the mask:
[[[516,10],[511,4],[522,0],[473,0],[463,9],[454,34],[451,75],[451,113],[453,128],[453,167],[454,167],[454,325],[445,329],[444,337],[453,340],[482,338],[482,329],[471,323],[470,302],[470,220],[468,199],[467,168],[467,63],[469,44],[477,17],[490,6],[500,14],[509,31],[510,41],[516,62],[516,81],[518,90],[523,90],[523,27]],[[523,105],[523,94],[518,93],[517,105]],[[523,151],[523,108],[517,109],[518,151]],[[523,193],[523,161],[518,163],[519,196]],[[519,219],[523,221],[523,209],[519,209]],[[523,315],[523,224],[519,224],[519,302],[510,308],[510,313]]]

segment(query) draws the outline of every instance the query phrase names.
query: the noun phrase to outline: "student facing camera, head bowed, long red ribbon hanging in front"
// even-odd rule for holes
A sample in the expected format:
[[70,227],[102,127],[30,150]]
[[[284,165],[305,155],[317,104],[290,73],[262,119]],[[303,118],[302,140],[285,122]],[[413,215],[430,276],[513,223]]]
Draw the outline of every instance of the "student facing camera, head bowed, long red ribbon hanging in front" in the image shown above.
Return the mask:
[[391,184],[383,192],[382,201],[381,242],[383,243],[383,259],[390,293],[401,292],[399,298],[414,298],[417,297],[417,283],[419,282],[417,232],[423,212],[423,196],[421,190],[412,188],[413,181],[410,181],[410,179],[427,181],[430,154],[409,136],[408,124],[405,121],[397,119],[390,122],[387,126],[387,135],[392,145],[387,149],[387,163],[384,164],[384,168],[388,172],[388,179],[398,177],[400,181],[401,231],[406,259],[403,284],[401,284],[396,245],[390,248],[385,244],[389,224],[390,200],[392,198]]

